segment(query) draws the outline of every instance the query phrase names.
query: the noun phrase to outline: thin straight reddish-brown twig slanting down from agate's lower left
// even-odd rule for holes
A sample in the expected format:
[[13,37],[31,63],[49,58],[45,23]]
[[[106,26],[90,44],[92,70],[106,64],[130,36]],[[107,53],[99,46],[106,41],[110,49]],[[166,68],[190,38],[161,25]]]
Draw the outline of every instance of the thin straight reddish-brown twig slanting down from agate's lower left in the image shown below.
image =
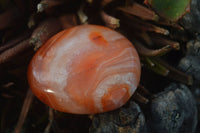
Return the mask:
[[34,98],[34,95],[31,91],[31,89],[28,89],[27,93],[26,93],[26,98],[24,100],[24,104],[23,104],[23,107],[22,107],[22,110],[21,110],[21,113],[20,113],[20,116],[19,116],[19,119],[18,119],[18,122],[17,122],[17,126],[15,128],[15,131],[14,133],[20,133],[21,131],[21,128],[24,124],[24,121],[26,119],[26,116],[28,114],[28,111],[29,111],[29,108],[30,108],[30,105],[33,101],[33,98]]

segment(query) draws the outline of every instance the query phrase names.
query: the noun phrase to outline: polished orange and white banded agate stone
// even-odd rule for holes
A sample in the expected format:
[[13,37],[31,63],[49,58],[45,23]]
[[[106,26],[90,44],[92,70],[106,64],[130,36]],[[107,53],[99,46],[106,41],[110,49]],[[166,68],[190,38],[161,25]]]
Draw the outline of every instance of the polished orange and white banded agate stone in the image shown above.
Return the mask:
[[95,114],[124,105],[137,88],[140,61],[129,40],[96,25],[76,26],[53,36],[28,68],[33,93],[67,113]]

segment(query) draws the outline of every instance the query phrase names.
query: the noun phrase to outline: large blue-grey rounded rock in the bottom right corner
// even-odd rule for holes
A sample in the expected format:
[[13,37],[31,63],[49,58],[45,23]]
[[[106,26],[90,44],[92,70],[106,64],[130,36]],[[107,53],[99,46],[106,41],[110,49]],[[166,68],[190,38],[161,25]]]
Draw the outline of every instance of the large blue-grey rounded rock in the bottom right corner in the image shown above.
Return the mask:
[[152,133],[194,133],[197,125],[195,100],[185,85],[170,84],[156,94],[150,105],[148,127]]

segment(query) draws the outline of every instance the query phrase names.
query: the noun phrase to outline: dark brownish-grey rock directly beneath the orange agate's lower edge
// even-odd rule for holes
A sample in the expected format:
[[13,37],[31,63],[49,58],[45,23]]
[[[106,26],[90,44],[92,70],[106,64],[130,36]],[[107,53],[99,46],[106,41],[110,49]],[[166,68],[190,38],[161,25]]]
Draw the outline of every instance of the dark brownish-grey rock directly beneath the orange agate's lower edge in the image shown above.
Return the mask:
[[90,133],[147,133],[140,107],[130,102],[118,110],[97,114],[92,118]]

